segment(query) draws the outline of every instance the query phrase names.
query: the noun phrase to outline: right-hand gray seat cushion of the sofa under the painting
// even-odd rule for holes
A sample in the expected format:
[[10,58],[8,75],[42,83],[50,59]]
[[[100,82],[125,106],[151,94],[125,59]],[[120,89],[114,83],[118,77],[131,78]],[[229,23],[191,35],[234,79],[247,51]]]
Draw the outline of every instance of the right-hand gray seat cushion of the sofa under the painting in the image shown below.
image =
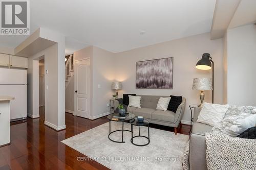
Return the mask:
[[156,110],[151,115],[152,120],[160,120],[164,122],[174,122],[175,113],[172,111]]

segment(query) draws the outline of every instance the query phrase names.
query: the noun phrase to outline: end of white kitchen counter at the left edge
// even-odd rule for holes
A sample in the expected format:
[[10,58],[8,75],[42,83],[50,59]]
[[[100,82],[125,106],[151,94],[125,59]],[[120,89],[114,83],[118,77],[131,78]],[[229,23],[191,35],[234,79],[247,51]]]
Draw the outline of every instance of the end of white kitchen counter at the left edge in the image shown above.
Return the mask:
[[11,96],[0,95],[0,147],[10,144]]

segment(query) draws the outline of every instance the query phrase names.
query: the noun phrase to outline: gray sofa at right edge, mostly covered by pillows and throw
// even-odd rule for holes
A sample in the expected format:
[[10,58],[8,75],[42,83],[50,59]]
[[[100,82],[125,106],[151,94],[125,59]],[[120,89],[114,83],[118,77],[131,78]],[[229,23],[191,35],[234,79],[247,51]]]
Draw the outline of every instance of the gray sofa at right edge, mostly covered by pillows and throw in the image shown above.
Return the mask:
[[189,148],[189,165],[190,170],[204,170],[207,169],[206,164],[206,142],[205,132],[210,132],[212,126],[197,123],[197,117],[201,108],[196,107],[194,110],[194,123],[192,133],[190,134],[190,148]]

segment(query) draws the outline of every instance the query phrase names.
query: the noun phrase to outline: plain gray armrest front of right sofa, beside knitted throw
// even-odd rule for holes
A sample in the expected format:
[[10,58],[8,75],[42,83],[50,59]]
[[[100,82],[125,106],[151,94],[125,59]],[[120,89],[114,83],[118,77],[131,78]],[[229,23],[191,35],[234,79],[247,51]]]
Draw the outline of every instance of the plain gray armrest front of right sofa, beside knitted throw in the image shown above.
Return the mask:
[[189,144],[189,166],[190,170],[207,169],[206,164],[206,142],[202,134],[192,133]]

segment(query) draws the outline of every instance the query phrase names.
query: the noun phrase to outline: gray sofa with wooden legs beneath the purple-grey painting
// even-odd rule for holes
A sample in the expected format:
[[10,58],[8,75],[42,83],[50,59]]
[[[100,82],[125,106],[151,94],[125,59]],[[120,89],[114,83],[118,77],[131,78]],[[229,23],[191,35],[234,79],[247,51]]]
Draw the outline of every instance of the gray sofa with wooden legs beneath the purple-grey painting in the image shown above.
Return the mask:
[[186,99],[182,98],[182,102],[179,105],[176,113],[172,111],[156,110],[157,103],[160,97],[167,98],[168,96],[157,95],[137,95],[141,96],[141,108],[127,107],[127,112],[133,113],[136,116],[143,116],[150,123],[174,127],[175,134],[177,134],[177,128],[180,125],[181,118],[184,114]]

